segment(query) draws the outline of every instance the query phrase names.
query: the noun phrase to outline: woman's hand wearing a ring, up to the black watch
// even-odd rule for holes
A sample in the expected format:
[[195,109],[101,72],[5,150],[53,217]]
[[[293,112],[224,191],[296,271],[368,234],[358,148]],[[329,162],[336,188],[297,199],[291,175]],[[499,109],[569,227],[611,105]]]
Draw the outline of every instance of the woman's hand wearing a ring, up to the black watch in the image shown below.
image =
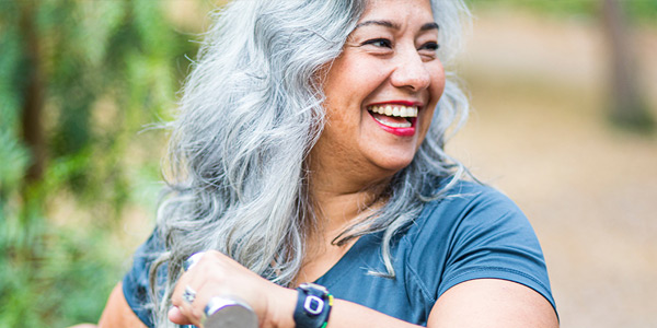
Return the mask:
[[[182,297],[186,288],[196,291],[189,304]],[[289,304],[280,302],[288,300]],[[204,308],[214,296],[232,296],[247,303],[258,317],[260,327],[276,327],[278,318],[293,312],[293,291],[279,286],[244,268],[228,256],[210,250],[178,280],[172,296],[169,319],[178,325],[201,327]]]

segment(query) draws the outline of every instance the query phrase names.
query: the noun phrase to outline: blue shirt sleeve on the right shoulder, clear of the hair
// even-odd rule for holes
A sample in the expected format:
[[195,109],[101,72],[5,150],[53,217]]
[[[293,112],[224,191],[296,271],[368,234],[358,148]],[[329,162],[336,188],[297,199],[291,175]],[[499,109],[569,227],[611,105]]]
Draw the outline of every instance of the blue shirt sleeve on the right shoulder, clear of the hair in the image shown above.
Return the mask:
[[520,209],[488,187],[457,191],[429,208],[415,242],[427,292],[437,300],[464,281],[503,279],[531,288],[555,307],[541,246]]

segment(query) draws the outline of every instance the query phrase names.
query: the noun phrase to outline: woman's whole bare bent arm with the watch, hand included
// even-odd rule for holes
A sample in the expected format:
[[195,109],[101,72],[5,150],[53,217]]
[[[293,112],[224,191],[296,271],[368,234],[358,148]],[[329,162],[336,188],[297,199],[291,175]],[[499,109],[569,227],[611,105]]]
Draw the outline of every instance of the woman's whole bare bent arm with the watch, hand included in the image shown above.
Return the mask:
[[[198,291],[193,305],[182,301],[185,285]],[[239,295],[252,305],[260,327],[295,328],[297,291],[268,282],[216,251],[207,253],[195,268],[183,274],[172,298],[176,307],[169,317],[176,324],[198,326],[209,297],[221,294]],[[327,328],[341,327],[418,326],[336,300]],[[428,327],[555,328],[558,323],[550,303],[532,289],[506,280],[480,279],[448,290],[434,305]]]

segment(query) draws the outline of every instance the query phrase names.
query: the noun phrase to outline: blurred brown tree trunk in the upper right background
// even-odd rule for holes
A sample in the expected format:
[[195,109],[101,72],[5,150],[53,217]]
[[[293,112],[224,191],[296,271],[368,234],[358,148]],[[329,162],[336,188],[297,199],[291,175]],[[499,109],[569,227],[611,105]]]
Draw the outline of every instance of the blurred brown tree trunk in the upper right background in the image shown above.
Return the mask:
[[622,127],[646,131],[654,127],[643,102],[633,61],[632,31],[625,17],[624,3],[602,2],[602,21],[611,54],[611,119]]

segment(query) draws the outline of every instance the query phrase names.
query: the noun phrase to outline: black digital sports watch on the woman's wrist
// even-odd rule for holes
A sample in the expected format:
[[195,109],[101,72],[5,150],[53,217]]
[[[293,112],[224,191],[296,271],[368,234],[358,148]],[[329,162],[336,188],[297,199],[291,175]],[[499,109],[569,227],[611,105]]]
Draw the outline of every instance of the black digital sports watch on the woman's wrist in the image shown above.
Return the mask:
[[297,328],[323,328],[328,323],[333,296],[319,284],[302,283],[297,288],[298,298],[295,307]]

